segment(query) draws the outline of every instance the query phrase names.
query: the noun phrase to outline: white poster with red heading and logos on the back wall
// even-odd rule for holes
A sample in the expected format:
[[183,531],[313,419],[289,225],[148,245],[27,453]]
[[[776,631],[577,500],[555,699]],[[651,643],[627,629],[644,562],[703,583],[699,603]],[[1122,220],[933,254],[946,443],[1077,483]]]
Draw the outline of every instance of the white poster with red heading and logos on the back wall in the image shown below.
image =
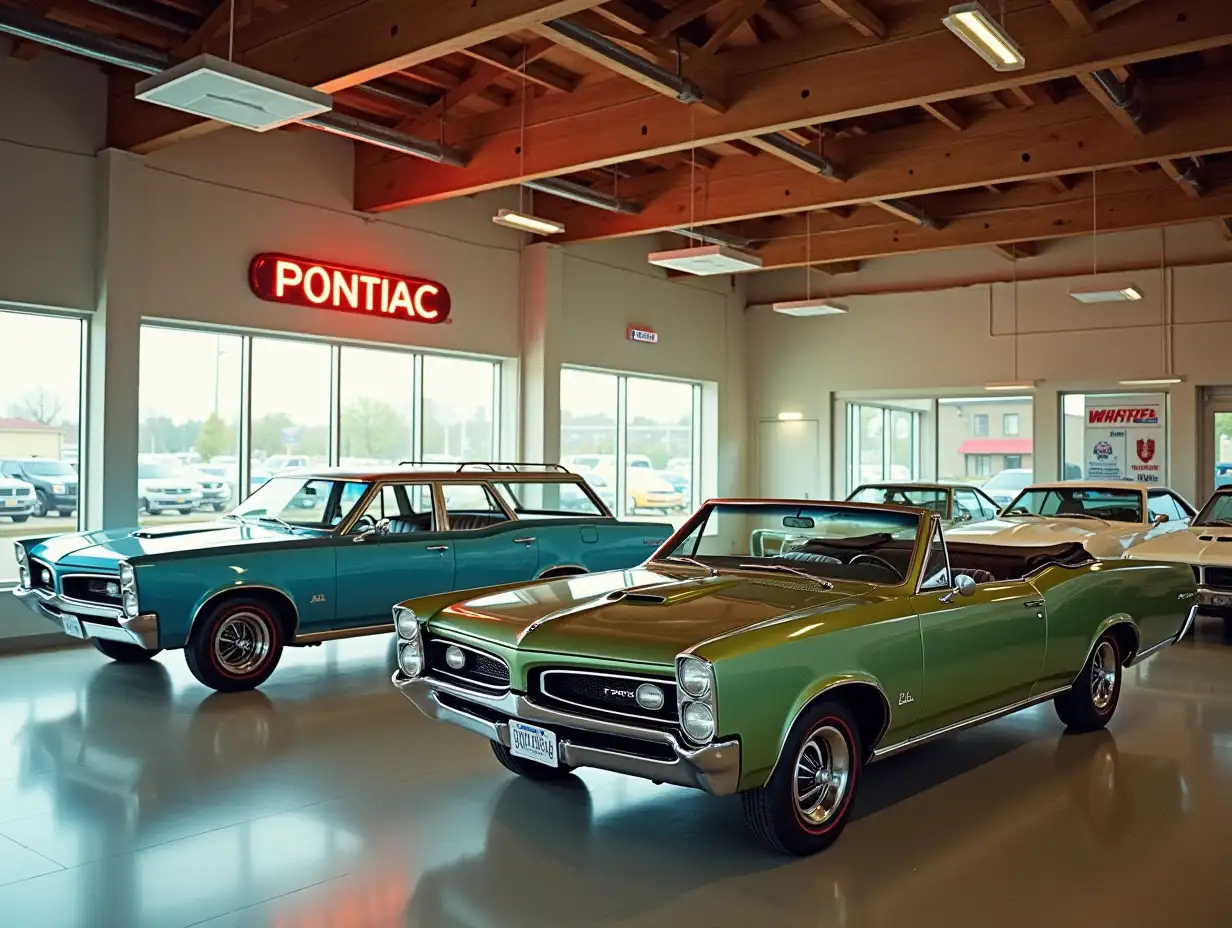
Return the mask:
[[1165,408],[1162,393],[1087,397],[1085,478],[1167,484]]

